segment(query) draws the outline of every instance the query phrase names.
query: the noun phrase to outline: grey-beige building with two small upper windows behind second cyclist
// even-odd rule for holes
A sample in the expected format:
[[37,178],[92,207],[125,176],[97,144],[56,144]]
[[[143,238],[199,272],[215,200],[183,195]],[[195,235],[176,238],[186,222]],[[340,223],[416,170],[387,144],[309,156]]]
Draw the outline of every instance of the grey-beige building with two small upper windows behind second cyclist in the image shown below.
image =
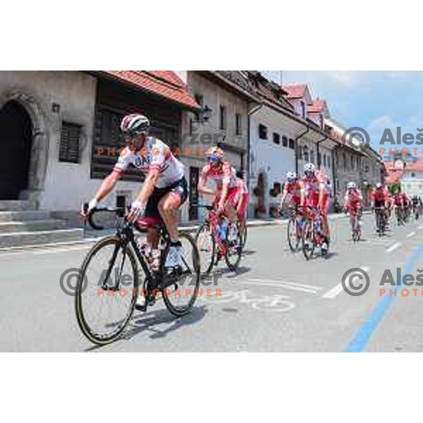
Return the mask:
[[[201,106],[199,112],[183,116],[180,149],[189,174],[190,203],[196,204],[197,183],[208,147],[220,145],[226,159],[245,171],[247,178],[249,112],[259,100],[250,92],[247,75],[242,71],[188,71],[186,78],[188,92]],[[183,207],[183,216],[190,221],[201,219],[202,212],[188,204]]]

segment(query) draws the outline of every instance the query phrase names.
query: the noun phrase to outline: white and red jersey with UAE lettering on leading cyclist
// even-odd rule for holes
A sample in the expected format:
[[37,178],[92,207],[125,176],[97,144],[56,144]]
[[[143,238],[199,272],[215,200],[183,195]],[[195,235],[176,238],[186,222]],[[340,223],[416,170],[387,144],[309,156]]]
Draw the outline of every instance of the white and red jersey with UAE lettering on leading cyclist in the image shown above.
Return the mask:
[[154,137],[147,137],[144,146],[139,150],[129,147],[123,149],[113,171],[123,173],[131,165],[145,175],[150,170],[157,169],[157,188],[166,188],[184,176],[183,164],[173,156],[171,149],[163,141]]

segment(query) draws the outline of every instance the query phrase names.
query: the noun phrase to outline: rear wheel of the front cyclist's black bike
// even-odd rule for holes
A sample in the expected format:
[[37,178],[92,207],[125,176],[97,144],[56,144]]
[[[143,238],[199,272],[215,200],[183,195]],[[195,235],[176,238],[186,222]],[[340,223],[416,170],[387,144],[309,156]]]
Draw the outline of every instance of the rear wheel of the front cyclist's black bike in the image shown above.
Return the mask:
[[[186,232],[179,233],[182,244],[182,271],[171,285],[162,290],[164,303],[174,316],[180,317],[190,312],[197,298],[200,286],[200,255],[195,239]],[[167,250],[164,254],[166,262]]]

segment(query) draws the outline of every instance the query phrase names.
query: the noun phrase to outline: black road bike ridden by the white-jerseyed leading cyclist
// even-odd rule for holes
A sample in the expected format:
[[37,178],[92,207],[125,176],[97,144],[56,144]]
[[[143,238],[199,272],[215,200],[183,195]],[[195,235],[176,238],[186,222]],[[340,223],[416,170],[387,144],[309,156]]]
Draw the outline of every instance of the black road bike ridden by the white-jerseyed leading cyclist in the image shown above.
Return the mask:
[[[137,309],[143,312],[162,298],[171,314],[188,314],[200,284],[200,255],[194,238],[180,231],[183,264],[169,271],[164,264],[170,238],[161,219],[145,217],[129,223],[123,207],[104,207],[94,209],[88,218],[97,230],[103,229],[93,220],[99,212],[116,214],[116,233],[95,243],[82,262],[75,290],[75,313],[82,333],[97,345],[116,341],[130,322],[139,295],[145,302]],[[158,267],[152,266],[147,244],[135,235],[147,228],[159,234]]]

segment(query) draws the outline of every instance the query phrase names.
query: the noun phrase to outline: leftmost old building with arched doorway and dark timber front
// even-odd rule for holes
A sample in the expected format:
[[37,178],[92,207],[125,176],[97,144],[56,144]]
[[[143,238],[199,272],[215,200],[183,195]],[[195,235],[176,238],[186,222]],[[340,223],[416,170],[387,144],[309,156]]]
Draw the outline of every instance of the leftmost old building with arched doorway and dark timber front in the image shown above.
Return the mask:
[[[152,135],[177,147],[183,114],[199,110],[183,80],[172,71],[2,71],[0,75],[0,144],[5,164],[0,169],[0,209],[31,212],[5,215],[6,221],[11,216],[42,216],[44,224],[30,219],[21,226],[25,230],[50,231],[54,223],[63,229],[63,222],[51,216],[65,218],[71,226],[80,224],[80,204],[92,198],[122,147],[122,116],[134,111],[146,114],[152,121]],[[140,183],[140,174],[128,173],[104,204],[128,204]],[[5,224],[1,231],[8,234],[12,227],[18,225]],[[56,240],[55,234],[51,236]],[[81,233],[63,229],[61,235],[73,239]],[[20,235],[1,236],[4,245],[20,242]],[[27,238],[32,243],[35,235]]]

